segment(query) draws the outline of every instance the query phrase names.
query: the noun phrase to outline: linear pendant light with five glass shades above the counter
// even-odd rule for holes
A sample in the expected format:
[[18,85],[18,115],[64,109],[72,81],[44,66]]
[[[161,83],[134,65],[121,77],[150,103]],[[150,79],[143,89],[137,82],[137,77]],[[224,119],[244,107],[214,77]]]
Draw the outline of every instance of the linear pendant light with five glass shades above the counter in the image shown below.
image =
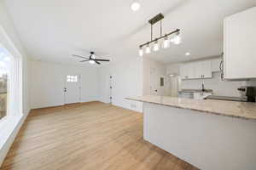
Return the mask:
[[[182,42],[182,39],[180,37],[180,29],[176,29],[175,31],[171,31],[169,33],[166,33],[164,36],[162,35],[162,20],[164,19],[163,14],[157,14],[152,18],[151,20],[148,20],[150,26],[151,26],[151,40],[149,42],[145,42],[139,46],[139,55],[143,56],[143,48],[145,48],[145,53],[150,54],[151,53],[151,48],[150,44],[154,43],[153,45],[153,50],[158,51],[160,48],[159,42],[161,42],[161,47],[162,48],[169,48],[170,47],[170,42],[173,44],[180,44]],[[153,26],[157,22],[160,21],[160,37],[153,38]],[[168,38],[170,37],[170,39]],[[163,41],[160,41],[164,39]]]

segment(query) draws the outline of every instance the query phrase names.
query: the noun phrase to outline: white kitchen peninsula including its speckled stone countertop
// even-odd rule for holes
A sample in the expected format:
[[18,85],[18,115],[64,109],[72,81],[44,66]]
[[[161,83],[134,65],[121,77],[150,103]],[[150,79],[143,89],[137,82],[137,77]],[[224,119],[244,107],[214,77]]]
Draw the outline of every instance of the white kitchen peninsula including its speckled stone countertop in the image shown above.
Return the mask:
[[143,139],[201,169],[256,169],[256,103],[127,98],[143,102]]

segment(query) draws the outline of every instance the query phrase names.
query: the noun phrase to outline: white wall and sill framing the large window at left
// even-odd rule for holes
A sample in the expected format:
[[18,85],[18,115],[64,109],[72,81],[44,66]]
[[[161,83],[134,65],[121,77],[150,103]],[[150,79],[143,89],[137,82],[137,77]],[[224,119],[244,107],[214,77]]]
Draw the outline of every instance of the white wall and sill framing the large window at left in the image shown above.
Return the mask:
[[[0,133],[0,167],[3,162],[4,157],[8,153],[8,150],[13,143],[15,136],[20,130],[22,123],[25,121],[27,113],[30,111],[29,105],[29,65],[28,56],[26,54],[25,48],[23,48],[20,38],[15,31],[15,26],[13,25],[12,19],[9,16],[9,12],[5,7],[3,1],[0,1],[0,25],[3,27],[4,31],[8,34],[11,42],[14,43],[15,48],[17,48],[22,55],[22,109],[23,115],[14,117],[14,119],[6,122],[4,128]],[[1,122],[3,123],[3,122]]]

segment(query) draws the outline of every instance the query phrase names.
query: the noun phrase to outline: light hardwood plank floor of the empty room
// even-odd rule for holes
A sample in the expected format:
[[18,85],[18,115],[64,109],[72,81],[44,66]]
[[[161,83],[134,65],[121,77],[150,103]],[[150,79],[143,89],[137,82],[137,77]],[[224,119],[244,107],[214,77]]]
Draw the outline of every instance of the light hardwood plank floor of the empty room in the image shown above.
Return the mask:
[[91,102],[33,110],[3,170],[197,169],[143,140],[143,115]]

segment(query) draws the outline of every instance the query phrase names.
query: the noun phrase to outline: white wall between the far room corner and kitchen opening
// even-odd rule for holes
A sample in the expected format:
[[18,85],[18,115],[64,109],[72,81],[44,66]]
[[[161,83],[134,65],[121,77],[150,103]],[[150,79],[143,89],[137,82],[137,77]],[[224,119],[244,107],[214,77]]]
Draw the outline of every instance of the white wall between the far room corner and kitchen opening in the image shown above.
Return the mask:
[[142,95],[142,58],[127,58],[100,68],[100,100],[107,103],[109,101],[109,75],[113,77],[112,104],[142,112],[143,104],[141,102],[125,99]]

